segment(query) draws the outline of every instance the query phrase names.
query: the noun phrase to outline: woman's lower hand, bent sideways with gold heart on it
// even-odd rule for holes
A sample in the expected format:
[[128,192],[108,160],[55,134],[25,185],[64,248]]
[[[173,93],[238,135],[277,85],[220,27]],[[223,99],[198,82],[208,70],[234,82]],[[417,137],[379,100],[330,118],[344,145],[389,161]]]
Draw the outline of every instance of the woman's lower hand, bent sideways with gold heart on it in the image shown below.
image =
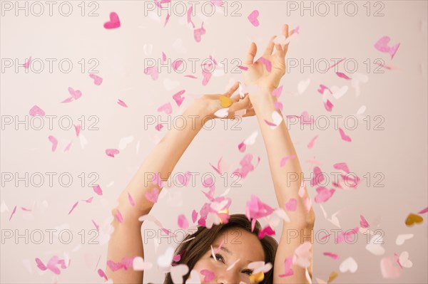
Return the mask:
[[[253,105],[251,105],[250,98],[248,94],[245,94],[244,98],[240,98],[240,95],[233,95],[236,90],[239,88],[239,83],[236,82],[233,86],[223,94],[212,94],[212,95],[203,95],[200,98],[194,100],[194,103],[198,105],[198,107],[203,108],[203,113],[205,116],[209,117],[209,119],[213,118],[228,118],[235,119],[235,112],[238,110],[246,110],[242,117],[248,117],[255,115],[255,111],[253,109]],[[215,113],[221,109],[228,109],[227,116],[218,117]]]

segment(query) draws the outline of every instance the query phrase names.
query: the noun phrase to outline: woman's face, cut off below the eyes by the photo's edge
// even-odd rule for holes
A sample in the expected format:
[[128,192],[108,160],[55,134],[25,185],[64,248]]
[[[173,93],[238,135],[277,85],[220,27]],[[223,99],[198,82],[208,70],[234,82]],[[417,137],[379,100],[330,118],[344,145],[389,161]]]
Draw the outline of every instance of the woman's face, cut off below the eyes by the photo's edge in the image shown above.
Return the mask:
[[[215,253],[223,239],[220,251]],[[265,252],[258,237],[241,228],[230,228],[220,233],[211,245],[217,261],[213,258],[210,248],[193,267],[200,274],[201,283],[250,283],[253,270],[248,268],[248,263],[265,261]],[[204,282],[205,276],[200,273],[200,270],[204,269],[215,273],[214,279],[210,282]]]

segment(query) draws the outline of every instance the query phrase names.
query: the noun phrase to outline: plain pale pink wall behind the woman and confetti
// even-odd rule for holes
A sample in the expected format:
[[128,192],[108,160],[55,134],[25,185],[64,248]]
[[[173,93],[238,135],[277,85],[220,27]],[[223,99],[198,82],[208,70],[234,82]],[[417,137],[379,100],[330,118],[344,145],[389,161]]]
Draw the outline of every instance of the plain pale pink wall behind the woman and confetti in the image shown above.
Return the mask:
[[[291,126],[290,133],[306,177],[310,177],[312,165],[305,161],[317,159],[325,172],[335,172],[333,164],[347,162],[350,170],[363,179],[358,189],[337,190],[332,199],[322,204],[328,218],[340,211],[337,215],[340,226],[348,229],[359,226],[362,214],[372,230],[377,228],[384,233],[385,252],[382,256],[374,256],[365,249],[367,241],[362,233],[358,234],[358,241],[354,244],[335,245],[333,241],[324,245],[315,243],[314,275],[327,280],[330,273],[339,272],[339,265],[345,258],[352,256],[358,263],[357,272],[339,272],[335,283],[427,283],[427,223],[424,221],[412,227],[404,225],[409,213],[417,213],[427,207],[426,1],[378,1],[380,4],[377,6],[372,2],[370,16],[367,16],[365,1],[354,2],[359,9],[356,16],[345,14],[345,2],[339,6],[337,16],[332,4],[329,4],[330,14],[327,16],[320,16],[321,10],[318,14],[315,11],[313,16],[310,16],[310,11],[304,11],[301,16],[300,10],[290,11],[287,15],[287,1],[230,1],[226,4],[228,16],[220,13],[204,16],[199,3],[193,22],[199,28],[203,21],[206,29],[200,43],[193,38],[193,28],[186,24],[185,16],[172,14],[164,27],[166,13],[163,12],[158,19],[144,16],[143,1],[93,1],[96,4],[92,6],[86,2],[84,16],[81,16],[81,6],[78,6],[80,2],[71,1],[73,12],[68,17],[58,13],[60,2],[54,6],[52,16],[49,16],[47,4],[44,4],[45,11],[41,16],[34,16],[31,11],[29,16],[25,16],[24,11],[16,16],[14,9],[9,11],[7,6],[3,6],[5,2],[1,2],[0,22],[2,121],[7,116],[15,115],[24,120],[31,107],[38,105],[46,115],[69,115],[75,125],[80,123],[78,118],[85,115],[86,127],[97,122],[98,130],[82,130],[78,138],[73,127],[71,130],[61,130],[58,118],[54,120],[52,130],[47,125],[42,130],[31,127],[25,130],[24,125],[16,126],[16,130],[14,125],[4,125],[1,131],[1,283],[102,283],[103,278],[98,276],[97,270],[105,268],[111,209],[116,205],[118,194],[153,149],[156,136],[160,138],[166,131],[164,128],[158,132],[154,125],[144,130],[144,116],[158,115],[157,107],[165,102],[171,102],[173,115],[179,115],[193,97],[204,93],[222,93],[233,80],[242,80],[241,74],[230,73],[230,68],[237,65],[232,62],[233,59],[242,60],[251,41],[258,43],[259,49],[263,50],[268,38],[280,32],[282,23],[289,23],[292,28],[300,26],[299,38],[291,44],[288,58],[302,59],[305,63],[309,63],[310,58],[314,58],[315,62],[325,58],[331,64],[332,58],[354,58],[359,66],[357,73],[368,78],[367,83],[361,83],[359,96],[350,81],[337,77],[332,70],[322,73],[315,69],[311,73],[309,68],[302,72],[300,68],[293,68],[282,80],[284,90],[280,101],[284,104],[284,115],[300,115],[306,110],[315,117],[345,117],[355,115],[365,105],[367,110],[364,115],[370,115],[372,123],[370,130],[362,120],[356,130],[345,129],[347,135],[352,137],[350,143],[340,140],[333,125],[327,130],[310,130],[307,127],[300,130],[297,125]],[[14,1],[9,3],[15,5]],[[24,1],[20,3],[24,6]],[[295,3],[300,5],[300,1]],[[310,1],[305,3],[310,5]],[[312,5],[316,4],[312,2]],[[380,8],[383,16],[373,16],[374,11]],[[88,16],[92,9],[96,9],[98,16]],[[241,16],[230,15],[236,9]],[[255,9],[260,12],[258,27],[247,19]],[[107,30],[103,28],[103,23],[108,21],[112,11],[118,14],[121,27]],[[382,36],[389,36],[391,44],[401,43],[392,60],[387,53],[380,53],[373,47]],[[153,46],[151,53],[148,46]],[[158,80],[152,80],[143,74],[144,60],[161,58],[162,52],[168,58],[186,58],[186,61],[188,58],[202,60],[213,55],[218,61],[227,60],[228,72],[215,73],[206,86],[201,83],[200,69],[195,73],[188,70],[183,74],[168,73],[164,69]],[[45,63],[41,73],[25,73],[22,67],[18,71],[14,67],[5,68],[8,59],[12,62],[17,59],[22,64],[29,56]],[[57,60],[52,73],[49,73],[46,58]],[[58,69],[57,63],[63,58],[69,58],[73,63],[70,73]],[[86,63],[83,73],[82,65],[78,63],[82,58]],[[88,76],[88,68],[94,65],[89,62],[91,58],[99,63],[96,70],[103,78],[99,86],[94,85]],[[367,70],[367,58],[371,62],[370,70]],[[392,65],[394,69],[379,68],[384,73],[374,73],[376,58],[383,59],[385,65]],[[357,76],[346,72],[341,64],[339,68],[340,72],[350,77]],[[198,79],[185,78],[185,74],[195,75]],[[297,93],[299,82],[308,79],[310,84],[307,89],[302,94]],[[317,92],[320,84],[349,87],[342,98],[332,101],[335,105],[332,112],[327,112],[322,105],[322,95]],[[82,96],[74,102],[60,103],[69,96],[68,87],[81,90]],[[186,90],[181,107],[171,99],[179,90]],[[118,99],[126,102],[128,108],[118,105]],[[89,120],[91,115],[98,117],[98,120]],[[374,125],[379,122],[373,119],[376,115],[384,118],[384,130],[374,130]],[[162,114],[161,117],[165,119],[166,115]],[[334,120],[330,118],[332,122]],[[343,122],[339,120],[340,127],[343,127]],[[230,123],[228,130],[223,130],[223,124],[219,121],[213,130],[200,132],[178,162],[175,172],[199,172],[200,175],[213,172],[209,162],[216,164],[222,156],[232,170],[237,168],[244,156],[238,151],[238,144],[258,130],[258,125],[255,117],[251,117],[240,123],[241,130],[231,128]],[[58,139],[55,152],[51,151],[49,135]],[[307,143],[315,135],[319,135],[315,146],[308,149]],[[123,137],[133,137],[133,141],[122,147],[116,157],[108,157],[105,149],[118,148]],[[63,152],[69,142],[73,143],[71,148]],[[277,206],[260,135],[255,144],[247,147],[246,153],[253,154],[254,159],[260,157],[260,164],[248,174],[241,188],[230,191],[228,196],[233,199],[230,213],[243,212],[250,194],[258,194],[270,206]],[[54,178],[54,184],[49,186],[48,176],[44,174],[45,182],[40,187],[34,186],[34,183],[25,186],[24,182],[15,186],[15,180],[5,181],[5,175],[9,172],[17,172],[20,177],[24,177],[26,172],[30,176],[36,172],[56,172],[55,177],[68,172],[73,182],[65,187]],[[79,178],[82,172],[86,176],[83,186]],[[91,172],[98,174],[97,183],[103,189],[102,196],[88,187]],[[369,176],[370,184],[367,184]],[[384,177],[379,183],[383,187],[374,186],[379,177]],[[163,226],[178,228],[175,216],[185,214],[190,219],[191,211],[200,209],[207,201],[200,189],[199,178],[194,188],[164,190],[152,214]],[[218,182],[217,189],[217,194],[221,194],[226,187]],[[313,198],[315,188],[308,186],[308,191]],[[81,201],[91,196],[91,203]],[[79,201],[78,205],[68,214],[76,201]],[[15,206],[16,212],[9,221]],[[24,211],[21,207],[32,211]],[[314,203],[314,208],[317,214],[315,230],[337,228],[322,215],[320,204]],[[422,216],[427,219],[427,214]],[[93,236],[88,231],[95,228],[91,220],[100,226],[99,244],[88,241]],[[10,230],[23,234],[26,229],[31,232],[36,229],[59,231],[63,228],[73,233],[73,241],[68,245],[58,242],[57,236],[54,236],[52,244],[48,239],[36,244],[31,240],[25,243],[24,238],[15,241],[14,238],[5,237]],[[143,229],[156,230],[157,227],[153,223],[145,223]],[[83,234],[86,236],[83,244],[82,233],[79,235],[81,230],[85,230]],[[412,233],[414,237],[397,246],[397,236],[404,233]],[[44,236],[47,238],[49,234],[45,232]],[[146,260],[156,263],[156,256],[167,247],[167,239],[163,239],[158,248],[154,246],[153,239],[146,241]],[[154,253],[155,248],[157,254]],[[325,251],[337,253],[340,260],[323,256]],[[409,252],[413,267],[400,269],[401,275],[397,279],[382,278],[381,258],[403,251]],[[51,256],[68,257],[71,266],[61,270],[60,275],[49,270],[41,272],[34,258],[41,258],[46,263]],[[162,279],[157,268],[145,275],[145,283],[161,282]]]

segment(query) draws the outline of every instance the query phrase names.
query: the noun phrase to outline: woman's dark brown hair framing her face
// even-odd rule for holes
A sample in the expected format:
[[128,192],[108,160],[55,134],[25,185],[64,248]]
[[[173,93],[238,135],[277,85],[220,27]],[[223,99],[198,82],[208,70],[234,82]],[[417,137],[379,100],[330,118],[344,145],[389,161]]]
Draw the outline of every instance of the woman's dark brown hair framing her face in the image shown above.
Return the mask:
[[[206,228],[205,226],[198,226],[198,231],[193,234],[188,234],[185,236],[180,245],[175,249],[175,255],[182,254],[180,261],[174,262],[173,265],[185,264],[188,265],[189,272],[184,275],[184,280],[187,280],[190,276],[195,263],[210,250],[210,246],[215,241],[215,238],[224,231],[230,228],[242,228],[249,233],[258,237],[259,231],[261,231],[262,226],[258,221],[255,221],[254,231],[251,231],[251,221],[248,220],[247,216],[244,214],[232,214],[229,216],[228,223],[220,223],[219,225],[213,225],[211,228]],[[195,238],[193,238],[195,237]],[[189,238],[193,238],[190,241],[187,241]],[[263,246],[263,251],[265,251],[265,263],[274,264],[275,253],[278,247],[278,243],[275,238],[271,236],[264,236],[259,239],[260,243]],[[269,272],[265,273],[265,278],[260,284],[272,284],[273,282],[273,268]],[[165,281],[163,284],[173,284],[170,273],[167,273],[165,276]]]

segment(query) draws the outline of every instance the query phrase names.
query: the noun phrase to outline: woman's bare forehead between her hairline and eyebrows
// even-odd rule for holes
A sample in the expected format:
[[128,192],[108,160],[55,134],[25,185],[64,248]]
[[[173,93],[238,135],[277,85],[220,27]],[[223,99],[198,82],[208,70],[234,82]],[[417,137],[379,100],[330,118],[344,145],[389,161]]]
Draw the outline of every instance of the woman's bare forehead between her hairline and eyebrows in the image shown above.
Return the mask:
[[[223,245],[222,245],[223,243]],[[231,255],[245,261],[264,261],[265,252],[262,243],[253,233],[243,230],[242,228],[228,228],[220,233],[213,246],[222,246],[229,251]],[[228,253],[228,252],[226,252]]]

